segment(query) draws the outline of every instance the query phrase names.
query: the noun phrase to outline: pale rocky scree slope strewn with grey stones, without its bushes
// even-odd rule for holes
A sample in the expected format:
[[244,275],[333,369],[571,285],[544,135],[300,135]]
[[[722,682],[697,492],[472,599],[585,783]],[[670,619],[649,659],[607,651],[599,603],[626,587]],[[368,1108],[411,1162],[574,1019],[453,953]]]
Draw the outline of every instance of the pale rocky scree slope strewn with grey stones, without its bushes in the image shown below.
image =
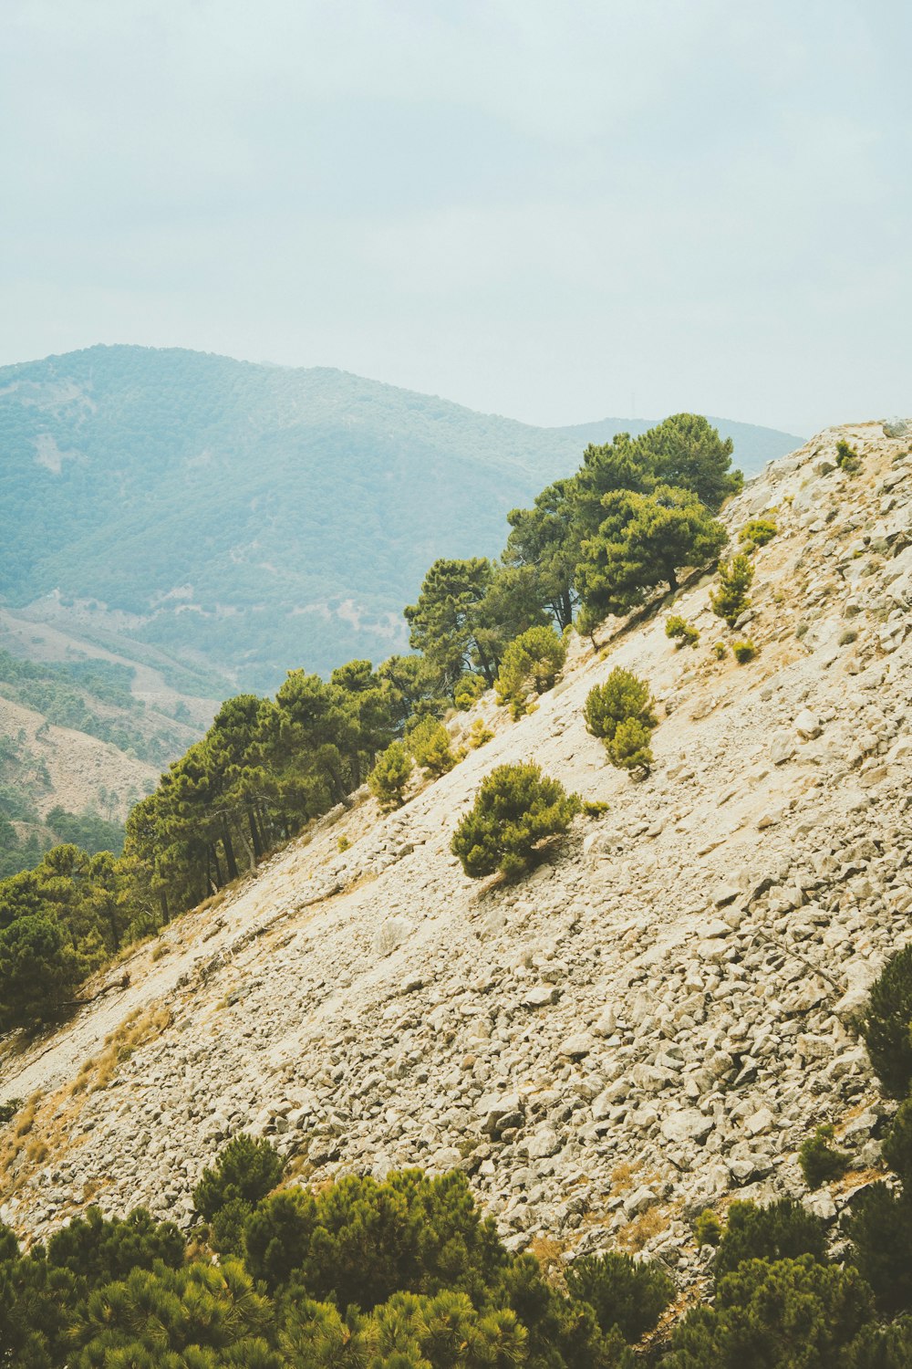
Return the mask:
[[[127,988],[118,968],[8,1054],[0,1097],[41,1098],[0,1140],[0,1217],[44,1232],[94,1199],[186,1221],[247,1129],[301,1179],[459,1165],[511,1244],[619,1243],[686,1283],[693,1213],[804,1192],[796,1151],[823,1121],[853,1155],[808,1197],[834,1214],[879,1162],[885,1106],[853,1016],[912,925],[912,424],[889,431],[826,431],[726,511],[733,530],[778,511],[756,660],[716,660],[733,634],[710,578],[674,602],[693,650],[666,638],[667,604],[606,626],[531,716],[483,701],[494,741],[398,813],[330,815],[137,951]],[[582,723],[617,664],[662,705],[643,783]],[[528,757],[610,808],[522,883],[473,883],[453,827],[488,769]]]

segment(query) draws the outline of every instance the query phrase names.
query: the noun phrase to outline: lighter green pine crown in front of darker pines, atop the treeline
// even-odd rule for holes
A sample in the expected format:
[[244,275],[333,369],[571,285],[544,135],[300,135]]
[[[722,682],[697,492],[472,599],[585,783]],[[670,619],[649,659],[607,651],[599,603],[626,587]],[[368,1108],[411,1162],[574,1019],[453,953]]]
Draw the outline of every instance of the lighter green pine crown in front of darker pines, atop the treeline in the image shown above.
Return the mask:
[[663,582],[675,590],[681,567],[706,565],[726,542],[722,524],[689,490],[618,490],[602,505],[602,523],[582,542],[577,565],[582,602],[602,616],[629,612]]

